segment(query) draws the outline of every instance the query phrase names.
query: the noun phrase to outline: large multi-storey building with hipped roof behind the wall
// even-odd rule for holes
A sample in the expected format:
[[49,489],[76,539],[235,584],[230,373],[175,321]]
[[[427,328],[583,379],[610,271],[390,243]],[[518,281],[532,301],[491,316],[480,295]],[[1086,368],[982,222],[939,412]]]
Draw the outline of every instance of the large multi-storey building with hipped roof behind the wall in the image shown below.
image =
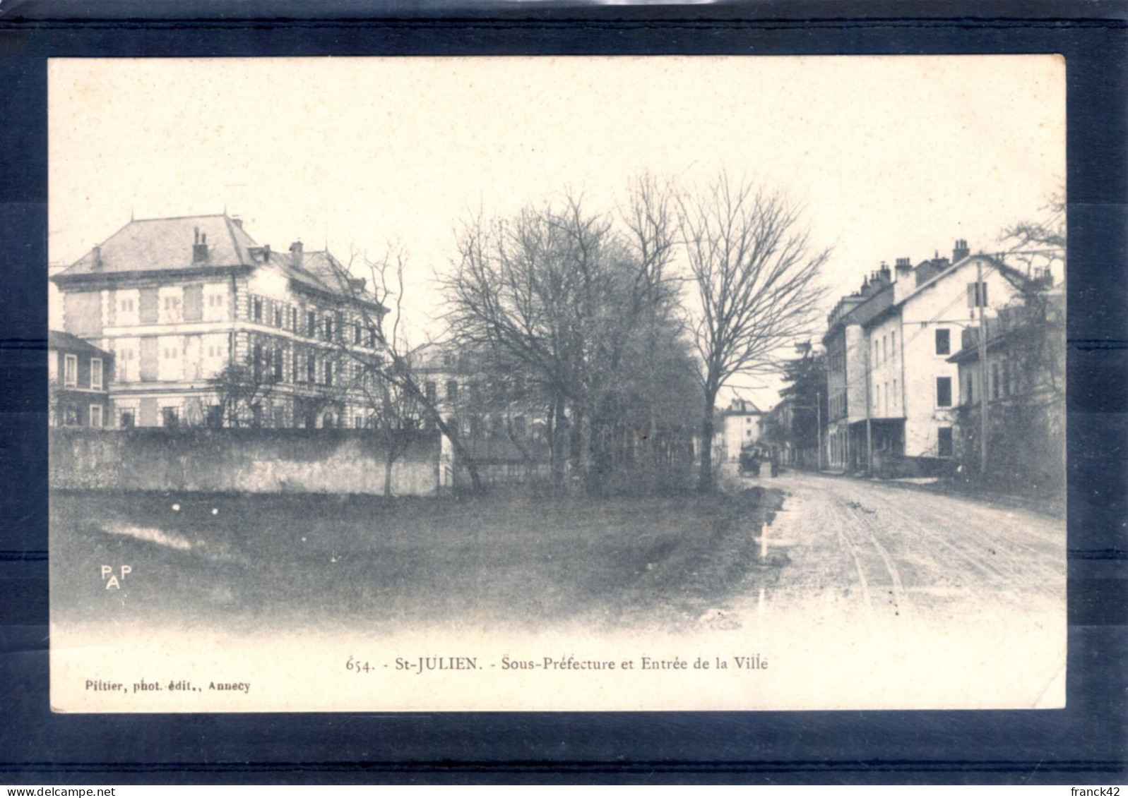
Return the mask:
[[386,309],[326,251],[227,214],[131,221],[53,275],[67,333],[106,349],[113,426],[363,426],[354,382]]

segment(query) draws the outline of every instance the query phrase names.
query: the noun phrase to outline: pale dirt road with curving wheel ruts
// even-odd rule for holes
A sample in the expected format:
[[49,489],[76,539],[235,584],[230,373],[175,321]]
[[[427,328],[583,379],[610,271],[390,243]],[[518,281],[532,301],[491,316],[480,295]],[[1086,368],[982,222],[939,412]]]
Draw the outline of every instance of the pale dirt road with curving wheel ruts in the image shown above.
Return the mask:
[[760,598],[855,618],[943,622],[1034,609],[1064,613],[1065,522],[901,486],[790,471],[742,480],[786,491],[768,531],[790,566]]

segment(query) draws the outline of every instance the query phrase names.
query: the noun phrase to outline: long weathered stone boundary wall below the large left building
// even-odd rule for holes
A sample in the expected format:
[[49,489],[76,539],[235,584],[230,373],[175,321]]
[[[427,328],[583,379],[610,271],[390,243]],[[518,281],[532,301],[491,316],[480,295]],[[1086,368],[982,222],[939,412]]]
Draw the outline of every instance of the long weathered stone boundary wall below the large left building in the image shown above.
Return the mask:
[[[394,496],[439,486],[438,433],[403,433]],[[362,429],[50,432],[50,485],[73,490],[384,495],[387,447]]]

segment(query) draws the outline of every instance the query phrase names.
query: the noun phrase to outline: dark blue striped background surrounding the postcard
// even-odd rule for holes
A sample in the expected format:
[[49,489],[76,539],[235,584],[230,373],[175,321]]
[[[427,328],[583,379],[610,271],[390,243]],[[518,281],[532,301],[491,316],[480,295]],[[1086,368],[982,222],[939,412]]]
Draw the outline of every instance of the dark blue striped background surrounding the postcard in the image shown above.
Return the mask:
[[[100,20],[89,16],[91,6]],[[0,0],[0,782],[1123,781],[1128,6],[796,0],[662,9],[548,5],[531,11],[451,2],[412,9],[359,2],[316,8],[247,2],[237,8],[232,17],[215,2],[61,0],[47,6]],[[847,10],[852,19],[835,18]],[[988,11],[990,18],[984,17]],[[296,19],[299,14],[306,18]],[[987,52],[1054,52],[1067,59],[1065,710],[50,712],[47,57]],[[827,657],[832,660],[834,651]],[[935,667],[943,679],[943,660]]]

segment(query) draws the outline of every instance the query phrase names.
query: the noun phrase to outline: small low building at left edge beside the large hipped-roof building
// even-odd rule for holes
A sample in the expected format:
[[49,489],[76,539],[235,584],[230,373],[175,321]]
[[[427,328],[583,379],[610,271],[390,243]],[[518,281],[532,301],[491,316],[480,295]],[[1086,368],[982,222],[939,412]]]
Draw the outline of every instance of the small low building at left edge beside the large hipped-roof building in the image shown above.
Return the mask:
[[51,426],[104,427],[109,423],[114,355],[68,333],[47,331]]

